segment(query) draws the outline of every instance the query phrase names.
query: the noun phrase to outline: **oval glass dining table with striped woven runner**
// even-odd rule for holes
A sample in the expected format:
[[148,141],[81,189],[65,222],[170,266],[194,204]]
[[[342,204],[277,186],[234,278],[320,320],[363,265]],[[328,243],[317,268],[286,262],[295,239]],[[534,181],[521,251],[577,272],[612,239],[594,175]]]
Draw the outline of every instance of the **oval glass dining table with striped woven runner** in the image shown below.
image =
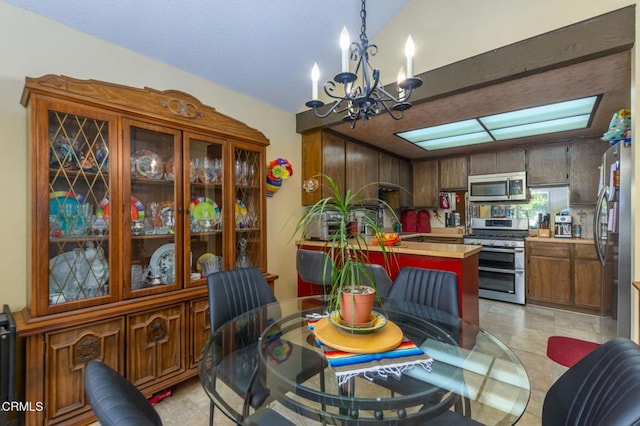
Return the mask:
[[[486,331],[442,311],[387,299],[375,308],[385,325],[353,336],[329,329],[334,324],[327,324],[326,306],[310,306],[311,299],[257,308],[212,333],[199,374],[216,415],[252,424],[250,398],[238,395],[237,386],[232,391],[228,380],[243,375],[268,394],[258,412],[275,410],[294,421],[303,416],[309,424],[506,425],[524,413],[527,373]],[[345,333],[345,341],[367,343],[356,355],[329,347],[321,327],[331,339]],[[402,341],[378,352],[375,333],[382,336],[387,327],[389,333],[399,329]],[[374,342],[373,354],[366,353],[368,342]]]

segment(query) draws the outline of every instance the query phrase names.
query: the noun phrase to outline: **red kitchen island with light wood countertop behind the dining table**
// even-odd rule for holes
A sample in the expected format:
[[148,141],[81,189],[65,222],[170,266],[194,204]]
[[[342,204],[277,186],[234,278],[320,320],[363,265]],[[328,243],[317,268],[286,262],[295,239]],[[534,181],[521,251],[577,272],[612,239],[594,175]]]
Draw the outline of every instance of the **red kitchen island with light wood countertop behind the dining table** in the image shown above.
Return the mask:
[[[298,241],[298,248],[307,250],[324,250],[324,241]],[[395,280],[400,268],[414,266],[417,268],[437,269],[454,272],[458,276],[458,307],[460,316],[465,322],[479,327],[478,314],[478,253],[481,246],[445,243],[405,242],[399,246],[387,247],[394,256],[387,256],[389,265],[385,269]],[[380,247],[369,248],[371,263],[385,266]],[[320,294],[320,286],[309,284],[298,277],[298,296]]]

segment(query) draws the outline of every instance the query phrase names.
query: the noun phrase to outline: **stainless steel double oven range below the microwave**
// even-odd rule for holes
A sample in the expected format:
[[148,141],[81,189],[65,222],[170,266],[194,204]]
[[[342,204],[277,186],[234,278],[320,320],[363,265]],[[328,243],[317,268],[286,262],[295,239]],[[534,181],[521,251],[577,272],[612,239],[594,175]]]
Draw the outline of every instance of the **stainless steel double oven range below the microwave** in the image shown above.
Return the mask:
[[525,303],[524,241],[529,234],[527,219],[472,219],[472,233],[465,244],[481,245],[479,295],[485,299]]

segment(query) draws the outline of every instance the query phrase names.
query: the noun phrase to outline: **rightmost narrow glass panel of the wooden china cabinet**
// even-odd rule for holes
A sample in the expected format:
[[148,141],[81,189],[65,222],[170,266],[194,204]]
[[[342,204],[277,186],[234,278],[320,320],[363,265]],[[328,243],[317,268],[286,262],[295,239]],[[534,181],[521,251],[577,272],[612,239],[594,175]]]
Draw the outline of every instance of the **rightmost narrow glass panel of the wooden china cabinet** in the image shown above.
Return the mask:
[[234,148],[233,179],[235,188],[235,268],[264,269],[264,206],[262,185],[264,171],[260,152]]

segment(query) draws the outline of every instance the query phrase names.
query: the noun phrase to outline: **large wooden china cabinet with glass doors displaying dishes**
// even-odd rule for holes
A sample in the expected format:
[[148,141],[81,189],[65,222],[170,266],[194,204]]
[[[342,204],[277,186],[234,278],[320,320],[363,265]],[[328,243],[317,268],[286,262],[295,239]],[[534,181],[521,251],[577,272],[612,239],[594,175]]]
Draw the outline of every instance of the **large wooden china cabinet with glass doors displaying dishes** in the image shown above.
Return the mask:
[[266,273],[268,139],[179,91],[27,78],[26,423],[92,419],[87,362],[147,396],[197,374],[207,273]]

